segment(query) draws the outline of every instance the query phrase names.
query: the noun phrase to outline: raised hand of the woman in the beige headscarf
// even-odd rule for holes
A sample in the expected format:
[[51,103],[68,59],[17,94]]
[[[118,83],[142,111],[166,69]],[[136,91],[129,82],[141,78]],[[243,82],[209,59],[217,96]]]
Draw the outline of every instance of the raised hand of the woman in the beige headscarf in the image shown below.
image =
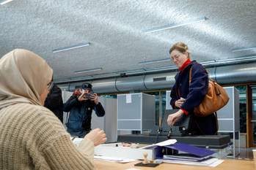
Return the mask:
[[89,139],[93,142],[94,146],[98,146],[99,144],[102,144],[106,142],[106,134],[103,130],[100,128],[95,128],[92,131],[87,134],[84,139]]

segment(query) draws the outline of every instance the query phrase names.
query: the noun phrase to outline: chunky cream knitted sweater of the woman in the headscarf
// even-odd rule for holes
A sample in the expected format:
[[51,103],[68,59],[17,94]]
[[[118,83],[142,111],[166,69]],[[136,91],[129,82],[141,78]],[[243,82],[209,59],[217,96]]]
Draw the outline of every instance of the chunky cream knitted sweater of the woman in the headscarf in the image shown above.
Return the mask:
[[45,107],[13,104],[0,109],[0,169],[94,169],[93,143],[76,147]]

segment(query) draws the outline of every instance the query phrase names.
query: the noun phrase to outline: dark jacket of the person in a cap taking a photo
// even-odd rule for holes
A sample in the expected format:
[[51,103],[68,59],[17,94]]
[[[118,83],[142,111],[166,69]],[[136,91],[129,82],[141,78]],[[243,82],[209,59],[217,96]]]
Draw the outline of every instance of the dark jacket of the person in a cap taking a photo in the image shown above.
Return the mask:
[[70,112],[70,116],[67,120],[67,131],[72,133],[89,131],[91,129],[92,109],[98,117],[105,115],[100,102],[95,104],[94,101],[78,101],[78,96],[70,96],[67,102],[64,104],[64,111]]

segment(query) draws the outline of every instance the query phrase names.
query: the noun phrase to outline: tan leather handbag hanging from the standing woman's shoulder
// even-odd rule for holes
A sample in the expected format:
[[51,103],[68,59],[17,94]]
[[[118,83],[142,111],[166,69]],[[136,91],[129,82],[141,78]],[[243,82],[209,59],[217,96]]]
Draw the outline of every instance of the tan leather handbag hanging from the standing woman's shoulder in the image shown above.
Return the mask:
[[[191,72],[189,71],[189,85],[191,84]],[[194,115],[199,117],[205,117],[213,114],[219,109],[222,109],[230,98],[227,96],[226,90],[222,88],[215,80],[209,78],[208,93],[202,100],[202,103],[194,108]]]

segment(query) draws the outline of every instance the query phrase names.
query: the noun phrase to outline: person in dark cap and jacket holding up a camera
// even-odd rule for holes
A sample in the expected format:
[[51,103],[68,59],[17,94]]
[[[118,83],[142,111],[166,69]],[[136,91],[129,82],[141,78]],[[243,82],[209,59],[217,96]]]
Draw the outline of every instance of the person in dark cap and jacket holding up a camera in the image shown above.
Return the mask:
[[92,109],[98,117],[105,115],[98,95],[92,93],[92,85],[84,83],[74,91],[63,108],[65,112],[70,112],[66,125],[71,136],[84,137],[91,131]]

